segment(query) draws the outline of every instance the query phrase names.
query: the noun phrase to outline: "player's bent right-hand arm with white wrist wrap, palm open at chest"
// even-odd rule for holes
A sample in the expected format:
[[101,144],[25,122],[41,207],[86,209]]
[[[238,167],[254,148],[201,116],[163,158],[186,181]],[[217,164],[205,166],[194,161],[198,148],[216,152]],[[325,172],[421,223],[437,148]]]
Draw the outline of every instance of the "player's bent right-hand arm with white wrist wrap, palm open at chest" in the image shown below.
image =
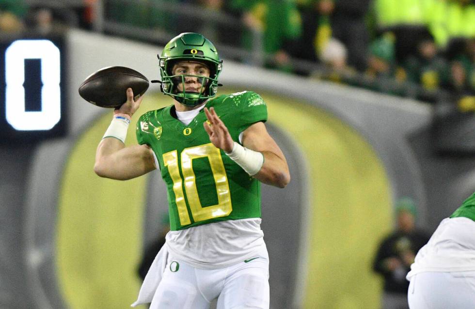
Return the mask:
[[249,126],[242,136],[242,145],[234,142],[226,126],[213,108],[205,108],[209,124],[205,123],[210,141],[226,152],[254,178],[268,185],[285,187],[290,182],[287,161],[277,143],[258,122]]

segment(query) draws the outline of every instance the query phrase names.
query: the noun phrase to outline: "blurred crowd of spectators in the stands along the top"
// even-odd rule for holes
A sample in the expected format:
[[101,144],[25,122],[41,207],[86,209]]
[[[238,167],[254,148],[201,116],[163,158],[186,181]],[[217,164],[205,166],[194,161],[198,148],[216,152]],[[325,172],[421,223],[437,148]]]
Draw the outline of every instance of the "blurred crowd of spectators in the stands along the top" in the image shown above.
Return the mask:
[[[0,0],[0,30],[91,29],[97,1],[65,13]],[[425,101],[443,93],[459,109],[475,110],[475,0],[100,2],[113,22],[168,39],[201,32],[218,46],[248,51],[240,61]]]

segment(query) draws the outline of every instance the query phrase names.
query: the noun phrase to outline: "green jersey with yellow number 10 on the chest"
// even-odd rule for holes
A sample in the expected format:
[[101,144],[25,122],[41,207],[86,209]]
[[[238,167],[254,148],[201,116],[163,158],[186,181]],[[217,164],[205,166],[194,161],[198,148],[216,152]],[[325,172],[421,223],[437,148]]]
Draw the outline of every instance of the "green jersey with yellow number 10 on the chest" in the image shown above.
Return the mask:
[[[267,107],[254,92],[221,95],[206,102],[233,140],[251,124],[267,120]],[[185,125],[174,106],[148,111],[137,123],[137,140],[158,159],[167,185],[172,231],[211,222],[261,216],[260,182],[250,177],[209,140],[204,110]]]

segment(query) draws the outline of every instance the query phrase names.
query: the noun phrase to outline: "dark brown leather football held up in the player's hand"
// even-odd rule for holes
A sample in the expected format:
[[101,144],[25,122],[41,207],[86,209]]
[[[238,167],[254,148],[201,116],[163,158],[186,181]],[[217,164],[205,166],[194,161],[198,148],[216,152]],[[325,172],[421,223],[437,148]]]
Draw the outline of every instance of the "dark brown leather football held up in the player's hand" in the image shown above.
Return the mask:
[[109,66],[88,76],[79,86],[79,95],[103,108],[118,108],[127,101],[127,88],[137,100],[147,91],[149,82],[141,73],[125,66]]

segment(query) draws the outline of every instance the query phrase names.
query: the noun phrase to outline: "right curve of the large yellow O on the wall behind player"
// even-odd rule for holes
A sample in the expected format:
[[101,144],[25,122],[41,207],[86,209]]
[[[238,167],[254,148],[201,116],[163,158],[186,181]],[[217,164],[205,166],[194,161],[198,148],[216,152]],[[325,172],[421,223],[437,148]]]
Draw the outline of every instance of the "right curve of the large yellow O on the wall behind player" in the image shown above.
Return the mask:
[[371,262],[380,237],[392,228],[389,181],[380,159],[331,114],[265,99],[269,120],[296,139],[310,168],[303,308],[379,308],[380,281]]

